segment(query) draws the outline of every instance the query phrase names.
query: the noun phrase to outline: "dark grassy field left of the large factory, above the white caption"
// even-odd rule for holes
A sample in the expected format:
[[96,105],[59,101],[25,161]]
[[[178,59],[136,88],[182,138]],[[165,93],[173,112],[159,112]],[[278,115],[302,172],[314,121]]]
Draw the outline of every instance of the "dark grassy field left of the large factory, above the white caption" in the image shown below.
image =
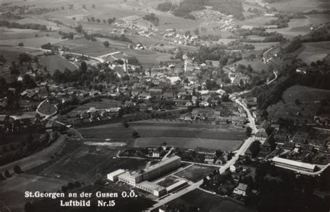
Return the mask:
[[86,183],[95,181],[96,177],[103,176],[120,168],[139,170],[146,167],[150,160],[135,158],[116,158],[116,147],[104,145],[83,145],[74,150],[70,156],[61,158],[56,163],[40,170],[38,174],[46,177],[78,180]]

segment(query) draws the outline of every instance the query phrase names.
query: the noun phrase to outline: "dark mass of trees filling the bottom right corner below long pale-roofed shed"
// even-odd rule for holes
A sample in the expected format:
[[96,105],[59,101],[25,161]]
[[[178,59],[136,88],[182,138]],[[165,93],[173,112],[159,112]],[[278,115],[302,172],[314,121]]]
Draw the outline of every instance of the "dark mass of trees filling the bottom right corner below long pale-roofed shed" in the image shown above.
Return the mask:
[[[270,174],[281,180],[267,177]],[[256,164],[256,177],[247,184],[259,194],[246,197],[245,204],[257,211],[329,211],[329,197],[314,195],[315,189],[329,190],[329,171],[320,177],[297,177],[290,170],[267,163]]]

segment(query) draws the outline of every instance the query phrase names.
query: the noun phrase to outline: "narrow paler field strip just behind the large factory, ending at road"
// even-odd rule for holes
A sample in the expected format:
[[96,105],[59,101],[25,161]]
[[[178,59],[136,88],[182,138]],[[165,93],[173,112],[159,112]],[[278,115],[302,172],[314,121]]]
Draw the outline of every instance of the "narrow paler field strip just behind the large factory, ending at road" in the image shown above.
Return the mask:
[[195,149],[202,147],[205,149],[221,149],[223,151],[235,151],[242,145],[241,140],[215,140],[201,138],[136,138],[134,147],[159,147],[163,142],[170,146]]

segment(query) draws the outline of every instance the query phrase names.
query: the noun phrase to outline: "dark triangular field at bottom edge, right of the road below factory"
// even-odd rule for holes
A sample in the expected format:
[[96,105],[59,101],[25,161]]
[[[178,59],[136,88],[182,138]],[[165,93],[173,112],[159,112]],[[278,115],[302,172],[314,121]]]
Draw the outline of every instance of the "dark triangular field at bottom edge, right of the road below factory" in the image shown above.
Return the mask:
[[[191,200],[194,201],[191,201]],[[201,211],[221,211],[221,212],[247,212],[253,211],[246,208],[244,204],[235,202],[233,200],[219,197],[206,193],[203,190],[196,188],[191,192],[178,197],[177,199],[168,202],[168,205],[181,208],[181,207],[193,207],[198,208]],[[154,210],[156,211],[156,210]]]

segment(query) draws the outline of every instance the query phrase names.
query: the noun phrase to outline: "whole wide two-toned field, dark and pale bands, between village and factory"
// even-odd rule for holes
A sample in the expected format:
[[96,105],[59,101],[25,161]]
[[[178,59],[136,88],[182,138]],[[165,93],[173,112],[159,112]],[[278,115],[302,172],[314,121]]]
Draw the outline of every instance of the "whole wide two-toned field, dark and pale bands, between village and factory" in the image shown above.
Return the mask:
[[[124,140],[132,147],[157,147],[162,142],[194,149],[205,147],[210,149],[234,150],[245,139],[244,129],[217,129],[207,124],[175,124],[155,123],[152,126],[145,124],[130,124],[129,128],[123,124],[107,124],[97,127],[81,128],[79,132],[87,140]],[[132,131],[139,133],[140,138],[131,141]]]

